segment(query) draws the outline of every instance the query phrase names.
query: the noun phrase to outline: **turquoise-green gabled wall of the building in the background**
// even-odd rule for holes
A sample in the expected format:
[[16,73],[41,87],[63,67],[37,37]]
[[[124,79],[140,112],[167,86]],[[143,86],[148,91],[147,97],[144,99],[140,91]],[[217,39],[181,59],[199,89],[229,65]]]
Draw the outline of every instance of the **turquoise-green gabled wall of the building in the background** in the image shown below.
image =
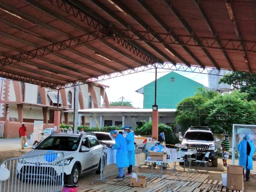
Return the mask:
[[[174,78],[174,82],[171,82],[171,78]],[[156,84],[156,104],[158,109],[175,109],[177,104],[184,98],[195,95],[197,87],[204,87],[202,84],[174,71],[158,78]],[[144,86],[143,108],[150,109],[154,105],[154,87],[154,81]]]

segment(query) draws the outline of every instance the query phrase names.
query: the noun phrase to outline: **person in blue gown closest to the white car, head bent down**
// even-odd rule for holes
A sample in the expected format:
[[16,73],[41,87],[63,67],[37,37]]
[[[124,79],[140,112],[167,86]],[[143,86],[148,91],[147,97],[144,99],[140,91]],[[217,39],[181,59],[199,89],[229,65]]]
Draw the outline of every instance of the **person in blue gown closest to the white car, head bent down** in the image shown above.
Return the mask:
[[122,134],[117,134],[114,130],[110,132],[110,135],[115,138],[115,145],[113,145],[112,149],[117,150],[115,158],[118,167],[118,176],[115,179],[122,179],[124,178],[124,168],[129,166],[126,141]]

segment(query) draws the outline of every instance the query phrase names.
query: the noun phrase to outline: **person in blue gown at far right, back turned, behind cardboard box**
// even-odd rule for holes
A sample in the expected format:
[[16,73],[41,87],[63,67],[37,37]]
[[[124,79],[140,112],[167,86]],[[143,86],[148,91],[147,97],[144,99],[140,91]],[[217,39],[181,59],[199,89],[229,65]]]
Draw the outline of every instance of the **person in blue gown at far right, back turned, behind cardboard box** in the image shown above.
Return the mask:
[[239,153],[239,162],[238,165],[241,165],[246,170],[245,179],[249,181],[250,170],[253,169],[252,166],[252,155],[254,154],[254,144],[249,141],[250,135],[246,134],[244,139],[237,146]]

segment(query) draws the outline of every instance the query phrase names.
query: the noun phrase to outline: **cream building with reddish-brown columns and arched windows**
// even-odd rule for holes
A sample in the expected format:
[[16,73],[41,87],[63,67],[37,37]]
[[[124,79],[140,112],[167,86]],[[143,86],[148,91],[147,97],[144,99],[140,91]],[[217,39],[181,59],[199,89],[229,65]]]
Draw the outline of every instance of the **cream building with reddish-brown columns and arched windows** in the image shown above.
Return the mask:
[[[105,88],[108,86],[90,83],[79,85],[78,110],[109,107]],[[58,91],[24,82],[0,80],[0,123],[4,123],[4,138],[19,136],[18,128],[24,122],[27,136],[33,132],[35,120],[43,121],[43,128],[53,127],[54,111],[58,105]],[[59,90],[59,110],[61,122],[73,125],[73,114],[64,113],[74,109],[74,88]],[[85,117],[82,125],[88,125]]]

